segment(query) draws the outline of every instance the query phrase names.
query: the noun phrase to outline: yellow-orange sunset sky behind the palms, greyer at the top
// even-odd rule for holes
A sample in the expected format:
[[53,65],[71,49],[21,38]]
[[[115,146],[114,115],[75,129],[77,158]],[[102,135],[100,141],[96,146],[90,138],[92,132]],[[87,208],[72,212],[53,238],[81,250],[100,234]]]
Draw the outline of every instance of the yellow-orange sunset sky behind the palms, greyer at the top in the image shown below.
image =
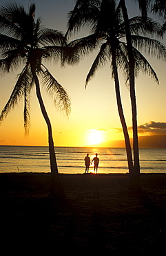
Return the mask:
[[[46,28],[54,28],[66,32],[68,12],[74,8],[73,0],[20,0],[17,3],[28,8],[30,3],[36,4],[36,17],[42,17]],[[3,6],[6,1],[0,0]],[[129,16],[140,15],[135,1],[127,0]],[[87,35],[83,31],[83,35]],[[79,38],[80,35],[74,35]],[[166,38],[163,39],[166,44]],[[110,73],[110,64],[101,68],[90,80],[85,89],[85,78],[90,70],[95,54],[84,57],[76,66],[47,64],[48,69],[56,80],[70,95],[71,113],[69,117],[59,113],[52,100],[42,88],[43,100],[52,123],[55,146],[82,147],[107,140],[123,140],[121,122],[118,116],[114,80]],[[147,57],[147,56],[146,56]],[[138,135],[151,136],[166,135],[166,64],[156,58],[147,59],[158,75],[160,84],[156,84],[148,75],[140,74],[136,78],[136,102],[138,118]],[[0,111],[10,97],[10,93],[21,71],[0,76]],[[129,89],[119,74],[121,97],[129,136],[132,138],[132,113]],[[23,129],[23,100],[12,109],[6,120],[0,126],[0,145],[30,145],[47,146],[48,131],[35,91],[31,94],[31,129],[29,136],[25,136]]]

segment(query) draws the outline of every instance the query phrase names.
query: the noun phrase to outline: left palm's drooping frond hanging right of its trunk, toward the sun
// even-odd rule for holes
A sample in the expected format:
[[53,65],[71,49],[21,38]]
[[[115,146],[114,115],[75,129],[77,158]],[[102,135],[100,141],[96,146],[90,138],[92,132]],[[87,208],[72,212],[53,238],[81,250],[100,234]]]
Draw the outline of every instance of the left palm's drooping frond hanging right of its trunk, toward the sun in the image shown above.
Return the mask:
[[52,76],[48,69],[45,68],[45,66],[43,67],[45,71],[41,69],[41,72],[43,73],[43,83],[46,85],[47,93],[53,98],[56,108],[59,109],[59,111],[65,112],[66,116],[69,116],[71,102],[67,91],[65,91],[63,86]]

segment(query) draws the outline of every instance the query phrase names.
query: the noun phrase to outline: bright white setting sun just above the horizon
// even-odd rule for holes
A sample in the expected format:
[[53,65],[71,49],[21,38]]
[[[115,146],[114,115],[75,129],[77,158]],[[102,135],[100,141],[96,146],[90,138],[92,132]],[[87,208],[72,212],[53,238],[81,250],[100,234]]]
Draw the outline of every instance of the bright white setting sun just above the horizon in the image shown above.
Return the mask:
[[104,136],[104,131],[102,130],[97,130],[97,129],[88,130],[88,133],[87,133],[88,145],[103,143],[104,141],[103,136]]

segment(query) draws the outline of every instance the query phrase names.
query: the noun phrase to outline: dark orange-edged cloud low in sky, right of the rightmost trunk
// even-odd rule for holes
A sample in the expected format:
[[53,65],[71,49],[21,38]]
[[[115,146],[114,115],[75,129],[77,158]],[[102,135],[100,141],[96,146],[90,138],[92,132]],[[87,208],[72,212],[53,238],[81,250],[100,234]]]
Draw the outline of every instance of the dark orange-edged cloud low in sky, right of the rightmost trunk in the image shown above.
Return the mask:
[[[129,127],[132,129],[132,127]],[[138,126],[139,134],[150,134],[150,135],[159,135],[166,134],[166,122],[147,122],[144,125]]]

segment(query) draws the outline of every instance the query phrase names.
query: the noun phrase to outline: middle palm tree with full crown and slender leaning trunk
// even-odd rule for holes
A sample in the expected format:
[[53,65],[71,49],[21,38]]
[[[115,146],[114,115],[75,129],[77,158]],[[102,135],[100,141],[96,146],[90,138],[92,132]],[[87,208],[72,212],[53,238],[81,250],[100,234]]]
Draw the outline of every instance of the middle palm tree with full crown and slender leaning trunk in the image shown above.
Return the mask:
[[[90,3],[91,2],[91,3]],[[87,3],[87,4],[85,4]],[[112,73],[114,75],[115,88],[116,88],[116,100],[118,104],[118,113],[121,118],[121,124],[123,127],[123,133],[125,137],[126,150],[127,150],[127,160],[129,165],[129,172],[132,174],[132,153],[131,146],[129,143],[129,136],[127,132],[127,126],[125,124],[125,118],[123,114],[123,108],[121,104],[121,95],[119,90],[119,80],[118,80],[118,67],[123,68],[123,73],[126,80],[130,79],[130,69],[129,69],[129,57],[127,52],[127,45],[123,40],[126,37],[125,24],[121,15],[121,3],[116,8],[115,1],[103,0],[103,1],[82,1],[76,2],[76,7],[72,12],[70,12],[70,19],[68,22],[68,33],[72,30],[79,30],[82,26],[90,25],[92,35],[87,36],[83,39],[77,39],[72,42],[72,46],[76,50],[82,51],[82,53],[89,53],[101,45],[101,48],[92,64],[90,73],[87,75],[86,84],[89,82],[90,78],[94,75],[95,71],[99,66],[103,66],[107,60],[111,61]],[[140,37],[138,33],[150,32],[154,33],[154,30],[159,30],[158,26],[153,23],[150,19],[145,23],[143,19],[135,17],[129,20],[130,30],[132,31],[132,39],[135,46],[143,46],[151,42],[152,47],[156,45],[156,51],[160,51],[160,43],[149,39],[147,37]],[[129,32],[130,32],[129,30]],[[149,73],[152,75],[156,82],[158,82],[156,73],[154,72],[152,66],[147,62],[145,57],[137,50],[137,48],[132,46],[132,51],[136,57],[136,62],[134,62],[134,73],[138,75],[139,71],[144,73]],[[162,47],[161,47],[162,48]],[[135,155],[134,155],[135,157]],[[136,159],[136,157],[135,157]],[[138,161],[139,163],[139,161]],[[132,176],[132,175],[131,175]],[[135,178],[135,176],[134,176]],[[139,176],[134,182],[134,187],[139,187]],[[130,179],[133,182],[133,179]],[[135,179],[134,179],[135,180]]]

